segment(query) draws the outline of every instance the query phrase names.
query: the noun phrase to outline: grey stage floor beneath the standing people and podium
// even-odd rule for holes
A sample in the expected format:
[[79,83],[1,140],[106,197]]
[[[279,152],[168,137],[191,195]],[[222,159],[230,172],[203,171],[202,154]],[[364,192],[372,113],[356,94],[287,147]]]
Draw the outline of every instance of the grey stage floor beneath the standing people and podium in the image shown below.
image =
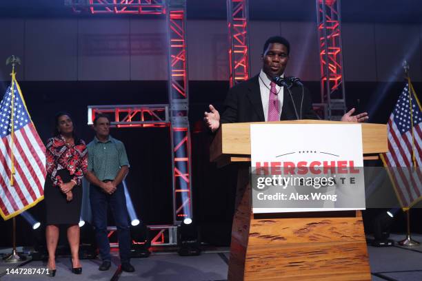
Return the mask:
[[[415,240],[422,242],[422,235],[414,235]],[[392,235],[398,241],[404,235]],[[1,253],[10,253],[3,249]],[[422,280],[422,246],[412,249],[394,246],[376,248],[368,246],[372,280]],[[100,260],[81,260],[83,273],[74,275],[70,272],[70,259],[57,258],[56,280],[141,280],[141,281],[223,281],[227,278],[228,248],[203,251],[201,256],[181,257],[174,251],[155,252],[149,258],[134,258],[132,264],[136,271],[126,273],[119,271],[117,252],[113,253],[112,267],[108,271],[99,271]],[[46,280],[44,275],[7,275],[6,269],[18,264],[0,263],[0,279],[3,280]],[[18,268],[46,268],[46,262],[30,261]]]

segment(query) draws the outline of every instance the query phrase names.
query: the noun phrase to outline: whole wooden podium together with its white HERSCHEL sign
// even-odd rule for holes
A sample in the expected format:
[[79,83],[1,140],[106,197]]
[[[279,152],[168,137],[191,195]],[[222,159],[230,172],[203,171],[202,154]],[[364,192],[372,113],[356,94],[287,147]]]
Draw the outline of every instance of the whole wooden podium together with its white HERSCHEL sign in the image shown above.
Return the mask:
[[[353,173],[363,167],[362,154],[368,157],[368,154],[387,151],[387,126],[383,124],[321,120],[221,124],[212,141],[210,159],[220,166],[239,163],[228,280],[370,281],[361,211],[327,210],[345,206],[339,204],[340,199],[351,199],[359,190],[362,191],[361,195],[356,198],[364,202],[363,185],[356,187],[359,179],[356,180],[356,174]],[[251,165],[248,165],[250,162]],[[259,171],[257,163],[260,165]],[[251,168],[255,169],[254,176],[269,178],[265,190],[257,188],[257,181],[252,182]],[[332,171],[334,168],[339,169]],[[318,175],[318,169],[328,176],[335,174],[347,178],[344,183],[348,183],[349,188],[343,187],[343,190],[328,187],[328,183],[321,180],[316,183],[312,177]],[[285,171],[288,173],[285,174]],[[271,182],[274,180],[271,174],[277,176],[275,180],[278,176],[299,178],[314,174],[310,176],[311,186],[304,183],[294,187],[294,197],[305,199],[307,194],[301,192],[306,189],[312,192],[325,189],[325,199],[328,195],[337,195],[336,201],[319,202],[316,206],[290,207],[285,200],[277,200],[277,196],[273,196],[271,201],[276,202],[275,208],[284,212],[253,214],[252,191],[258,189],[257,192],[269,192],[274,189],[274,185],[281,186],[286,182]],[[354,183],[350,181],[351,175],[355,177]],[[322,177],[321,174],[318,176]],[[321,187],[315,189],[319,184]],[[337,179],[336,184],[342,184],[342,180]],[[341,195],[345,192],[347,196]],[[302,201],[308,204],[308,200],[297,200]],[[364,203],[359,205],[359,200],[351,201],[352,205],[348,206],[350,209],[364,207]],[[256,213],[273,211],[265,210],[265,206],[261,208],[255,203],[253,207]],[[292,212],[295,207],[301,212]],[[323,211],[311,211],[312,208]]]

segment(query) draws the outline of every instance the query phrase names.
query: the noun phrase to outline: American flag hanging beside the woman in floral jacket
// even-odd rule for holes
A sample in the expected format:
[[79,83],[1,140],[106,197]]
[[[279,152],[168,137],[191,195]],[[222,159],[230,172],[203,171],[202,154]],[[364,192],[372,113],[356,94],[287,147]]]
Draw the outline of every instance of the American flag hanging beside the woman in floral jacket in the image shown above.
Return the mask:
[[[0,103],[0,137],[0,214],[8,220],[43,200],[46,179],[46,147],[32,123],[14,75]],[[15,174],[10,185],[12,157]]]

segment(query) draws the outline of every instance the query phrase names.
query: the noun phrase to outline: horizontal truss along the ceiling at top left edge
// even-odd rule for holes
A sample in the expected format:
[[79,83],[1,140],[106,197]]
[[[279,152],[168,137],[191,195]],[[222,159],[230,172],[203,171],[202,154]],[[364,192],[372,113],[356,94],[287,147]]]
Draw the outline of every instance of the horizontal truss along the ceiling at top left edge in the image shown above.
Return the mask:
[[65,0],[74,12],[92,14],[165,14],[165,0]]

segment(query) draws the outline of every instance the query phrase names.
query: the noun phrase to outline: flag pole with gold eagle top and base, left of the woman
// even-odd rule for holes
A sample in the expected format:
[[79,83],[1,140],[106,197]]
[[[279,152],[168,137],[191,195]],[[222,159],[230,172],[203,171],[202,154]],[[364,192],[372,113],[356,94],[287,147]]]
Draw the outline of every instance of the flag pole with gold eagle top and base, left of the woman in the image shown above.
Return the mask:
[[[11,127],[12,127],[12,133],[10,134],[10,158],[12,160],[12,169],[10,172],[10,185],[13,186],[13,176],[14,176],[14,157],[13,157],[13,138],[14,138],[14,80],[16,72],[14,72],[14,66],[17,64],[21,64],[21,59],[17,56],[10,56],[6,60],[6,65],[12,64],[12,73],[10,74],[12,76],[12,85],[10,86],[10,93],[12,94],[12,110],[10,110],[11,114]],[[13,233],[12,233],[12,240],[13,240],[13,249],[12,253],[10,255],[6,256],[6,258],[3,258],[4,262],[22,262],[23,260],[26,260],[25,256],[20,256],[19,253],[16,251],[16,216],[12,218],[13,223]]]

